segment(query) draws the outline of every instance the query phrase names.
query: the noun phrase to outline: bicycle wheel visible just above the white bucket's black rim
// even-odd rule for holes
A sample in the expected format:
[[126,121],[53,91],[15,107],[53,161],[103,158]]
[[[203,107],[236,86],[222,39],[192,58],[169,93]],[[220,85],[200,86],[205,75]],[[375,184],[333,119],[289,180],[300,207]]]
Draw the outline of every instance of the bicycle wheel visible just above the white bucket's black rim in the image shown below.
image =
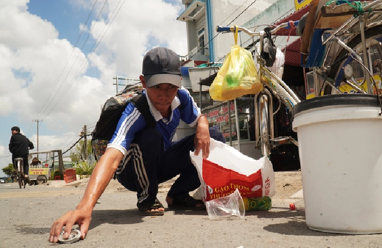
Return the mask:
[[[368,69],[370,70],[372,68],[374,74],[377,74],[378,77],[378,74],[381,75],[382,69],[382,25],[366,30],[365,40],[369,58]],[[363,58],[364,51],[362,49],[361,34],[357,35],[350,42],[348,42],[347,46],[357,51],[361,58]],[[337,90],[333,89],[330,85],[326,85],[323,90],[323,95],[358,93],[359,90],[367,92],[366,83],[359,86],[358,90],[345,83],[346,80],[352,83],[358,83],[361,81],[360,79],[364,78],[364,76],[363,68],[360,63],[352,58],[351,53],[348,50],[342,49],[334,59],[334,64],[328,74],[328,78],[331,79],[330,81],[332,82],[327,81],[327,84],[332,84],[332,86]],[[379,88],[381,92],[381,84],[379,85]],[[377,94],[375,89],[373,91],[374,94]]]

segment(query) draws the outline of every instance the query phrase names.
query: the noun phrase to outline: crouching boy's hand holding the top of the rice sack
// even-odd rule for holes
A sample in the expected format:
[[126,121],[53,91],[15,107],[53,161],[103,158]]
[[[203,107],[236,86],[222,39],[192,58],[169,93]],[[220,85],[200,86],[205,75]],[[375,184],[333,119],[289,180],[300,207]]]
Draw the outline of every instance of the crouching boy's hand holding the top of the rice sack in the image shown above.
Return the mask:
[[195,143],[195,156],[199,155],[200,149],[202,150],[202,157],[207,158],[209,155],[209,131],[208,121],[204,115],[201,115],[196,124],[196,134],[194,138]]

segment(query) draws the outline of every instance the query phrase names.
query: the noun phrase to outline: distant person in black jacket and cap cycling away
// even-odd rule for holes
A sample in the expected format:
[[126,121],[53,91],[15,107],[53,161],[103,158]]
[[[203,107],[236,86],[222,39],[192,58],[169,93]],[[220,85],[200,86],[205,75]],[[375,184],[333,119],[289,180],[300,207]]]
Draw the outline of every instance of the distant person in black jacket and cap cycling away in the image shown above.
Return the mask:
[[29,163],[28,163],[28,154],[30,149],[34,149],[33,143],[29,141],[24,135],[20,133],[19,127],[12,127],[11,129],[12,136],[9,141],[9,151],[12,153],[12,163],[15,171],[17,171],[17,165],[15,158],[23,158],[23,168],[25,178],[29,179]]

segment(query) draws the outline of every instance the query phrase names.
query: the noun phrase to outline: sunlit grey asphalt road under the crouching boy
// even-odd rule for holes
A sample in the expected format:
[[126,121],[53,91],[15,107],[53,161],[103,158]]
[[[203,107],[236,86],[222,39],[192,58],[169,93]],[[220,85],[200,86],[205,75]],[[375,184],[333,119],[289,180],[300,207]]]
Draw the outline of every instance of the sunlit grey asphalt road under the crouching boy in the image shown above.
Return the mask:
[[[269,211],[244,219],[210,220],[206,211],[166,211],[139,216],[133,192],[106,190],[96,204],[85,240],[48,242],[52,223],[80,201],[84,188],[0,184],[0,247],[381,247],[382,235],[343,235],[310,230],[304,211],[272,199]],[[158,198],[165,203],[166,192]],[[166,205],[165,205],[166,206]],[[167,209],[166,209],[167,210]]]

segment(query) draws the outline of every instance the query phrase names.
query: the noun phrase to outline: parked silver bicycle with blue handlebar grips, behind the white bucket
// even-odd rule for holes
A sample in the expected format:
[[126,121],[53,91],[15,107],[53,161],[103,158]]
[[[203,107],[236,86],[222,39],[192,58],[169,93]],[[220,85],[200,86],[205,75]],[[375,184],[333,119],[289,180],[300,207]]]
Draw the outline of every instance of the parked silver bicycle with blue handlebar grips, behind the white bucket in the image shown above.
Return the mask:
[[[366,19],[366,21],[366,14],[364,14],[365,11],[368,12],[367,15],[370,16],[370,18]],[[321,35],[322,45],[325,45],[328,42],[329,45],[324,52],[324,63],[319,67],[314,68],[314,85],[316,97],[321,96],[321,92],[323,95],[347,93],[345,90],[342,89],[341,91],[339,89],[341,87],[343,88],[344,85],[348,85],[351,87],[351,89],[358,93],[370,93],[372,86],[369,81],[369,76],[371,76],[373,85],[375,87],[374,93],[377,94],[377,98],[379,99],[379,93],[382,93],[382,91],[381,89],[378,89],[377,84],[373,78],[373,74],[368,69],[368,58],[366,53],[363,53],[364,59],[361,58],[361,54],[359,53],[360,51],[369,49],[369,59],[371,60],[370,48],[372,48],[374,51],[373,46],[376,46],[375,49],[377,49],[378,53],[375,54],[374,52],[373,54],[377,58],[377,60],[375,60],[377,61],[376,67],[379,68],[379,76],[382,78],[382,60],[380,59],[382,57],[382,16],[378,15],[381,11],[382,0],[373,1],[372,3],[363,6],[362,9],[358,11],[362,12],[359,14],[360,17],[358,19],[353,16],[338,29],[325,31]],[[341,14],[343,15],[343,13],[339,13],[339,15]],[[364,28],[365,23],[366,29]],[[292,28],[293,26],[298,26],[298,24],[299,21],[293,21],[292,23],[282,23],[273,28],[270,33],[273,35],[277,32],[277,30],[281,28]],[[357,29],[354,29],[352,33],[352,28],[354,28],[356,24],[360,24],[359,30],[357,32]],[[282,144],[293,143],[298,146],[298,143],[292,137],[274,137],[273,115],[279,111],[281,102],[293,110],[294,105],[300,102],[300,99],[280,78],[278,78],[274,73],[269,71],[264,66],[264,60],[259,55],[263,49],[262,46],[264,40],[264,31],[252,32],[247,28],[237,26],[218,26],[216,28],[217,32],[235,32],[236,29],[238,29],[239,32],[243,31],[250,36],[259,37],[260,53],[257,55],[257,63],[259,64],[258,74],[261,82],[263,83],[264,89],[255,95],[255,137],[256,142],[260,141],[261,143],[260,148],[262,155],[269,156],[271,145],[278,146]],[[341,37],[342,40],[339,37]],[[335,52],[335,49],[338,48],[338,46],[336,47],[335,44],[338,44],[338,46],[342,49],[338,52]],[[361,46],[362,48],[360,48]],[[335,58],[334,62],[329,58],[329,54]],[[353,66],[357,66],[357,64],[352,65],[351,62],[353,61],[358,63],[358,66],[361,66],[363,72],[361,76],[363,76],[363,78],[361,78],[360,75],[354,75],[352,69]],[[348,77],[346,80],[343,80],[345,70]],[[323,79],[322,84],[320,84],[320,79]],[[360,80],[362,83],[359,82]],[[341,83],[341,81],[344,82]],[[367,90],[365,89],[365,86],[363,86],[365,83],[367,84]],[[273,111],[272,96],[276,97],[279,101],[279,107],[275,112],[269,112],[269,109]],[[268,98],[270,100],[268,100]],[[382,108],[381,99],[379,99],[379,101]]]

